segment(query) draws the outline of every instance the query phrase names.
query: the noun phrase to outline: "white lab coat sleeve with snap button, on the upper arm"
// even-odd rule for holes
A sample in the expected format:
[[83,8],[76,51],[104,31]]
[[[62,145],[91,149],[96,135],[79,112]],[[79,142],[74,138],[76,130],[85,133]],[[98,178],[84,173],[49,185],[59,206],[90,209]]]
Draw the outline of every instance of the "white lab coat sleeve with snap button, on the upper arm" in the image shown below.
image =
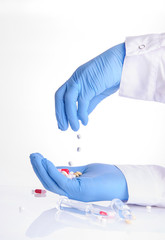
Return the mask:
[[119,95],[165,103],[165,33],[127,37]]

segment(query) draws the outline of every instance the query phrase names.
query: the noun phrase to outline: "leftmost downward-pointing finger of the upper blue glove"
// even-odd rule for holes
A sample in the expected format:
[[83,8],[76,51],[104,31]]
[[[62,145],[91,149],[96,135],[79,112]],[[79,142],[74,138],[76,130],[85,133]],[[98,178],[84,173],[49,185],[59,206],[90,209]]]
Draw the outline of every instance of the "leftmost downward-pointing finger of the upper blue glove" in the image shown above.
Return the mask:
[[64,96],[66,92],[66,84],[62,85],[55,93],[55,112],[58,123],[58,128],[62,131],[67,130],[68,120],[65,112]]

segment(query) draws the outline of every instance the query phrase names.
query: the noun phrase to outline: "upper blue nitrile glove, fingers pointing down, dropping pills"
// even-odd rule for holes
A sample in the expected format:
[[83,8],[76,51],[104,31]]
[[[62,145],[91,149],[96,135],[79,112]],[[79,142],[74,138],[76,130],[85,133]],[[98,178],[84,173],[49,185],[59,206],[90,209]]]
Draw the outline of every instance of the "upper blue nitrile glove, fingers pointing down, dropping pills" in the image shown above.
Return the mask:
[[[125,44],[121,43],[80,66],[55,94],[58,127],[74,131],[79,120],[88,123],[88,115],[96,105],[119,89],[125,57]],[[78,102],[78,108],[76,103]]]

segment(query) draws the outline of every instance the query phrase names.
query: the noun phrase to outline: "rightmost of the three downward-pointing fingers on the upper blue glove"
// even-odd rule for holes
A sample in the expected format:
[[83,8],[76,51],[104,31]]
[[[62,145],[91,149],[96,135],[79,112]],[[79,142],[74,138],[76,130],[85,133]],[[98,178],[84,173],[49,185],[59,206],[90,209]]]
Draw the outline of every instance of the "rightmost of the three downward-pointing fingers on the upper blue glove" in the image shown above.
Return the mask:
[[83,101],[81,98],[78,99],[78,118],[84,126],[88,123],[88,107],[88,101]]

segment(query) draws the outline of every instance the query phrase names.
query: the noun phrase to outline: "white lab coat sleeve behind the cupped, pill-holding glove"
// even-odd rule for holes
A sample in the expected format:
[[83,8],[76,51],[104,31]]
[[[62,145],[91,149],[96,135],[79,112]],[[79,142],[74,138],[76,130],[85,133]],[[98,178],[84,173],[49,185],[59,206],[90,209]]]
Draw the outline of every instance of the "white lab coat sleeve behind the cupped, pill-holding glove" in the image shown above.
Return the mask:
[[117,165],[128,187],[128,204],[165,207],[165,167]]

